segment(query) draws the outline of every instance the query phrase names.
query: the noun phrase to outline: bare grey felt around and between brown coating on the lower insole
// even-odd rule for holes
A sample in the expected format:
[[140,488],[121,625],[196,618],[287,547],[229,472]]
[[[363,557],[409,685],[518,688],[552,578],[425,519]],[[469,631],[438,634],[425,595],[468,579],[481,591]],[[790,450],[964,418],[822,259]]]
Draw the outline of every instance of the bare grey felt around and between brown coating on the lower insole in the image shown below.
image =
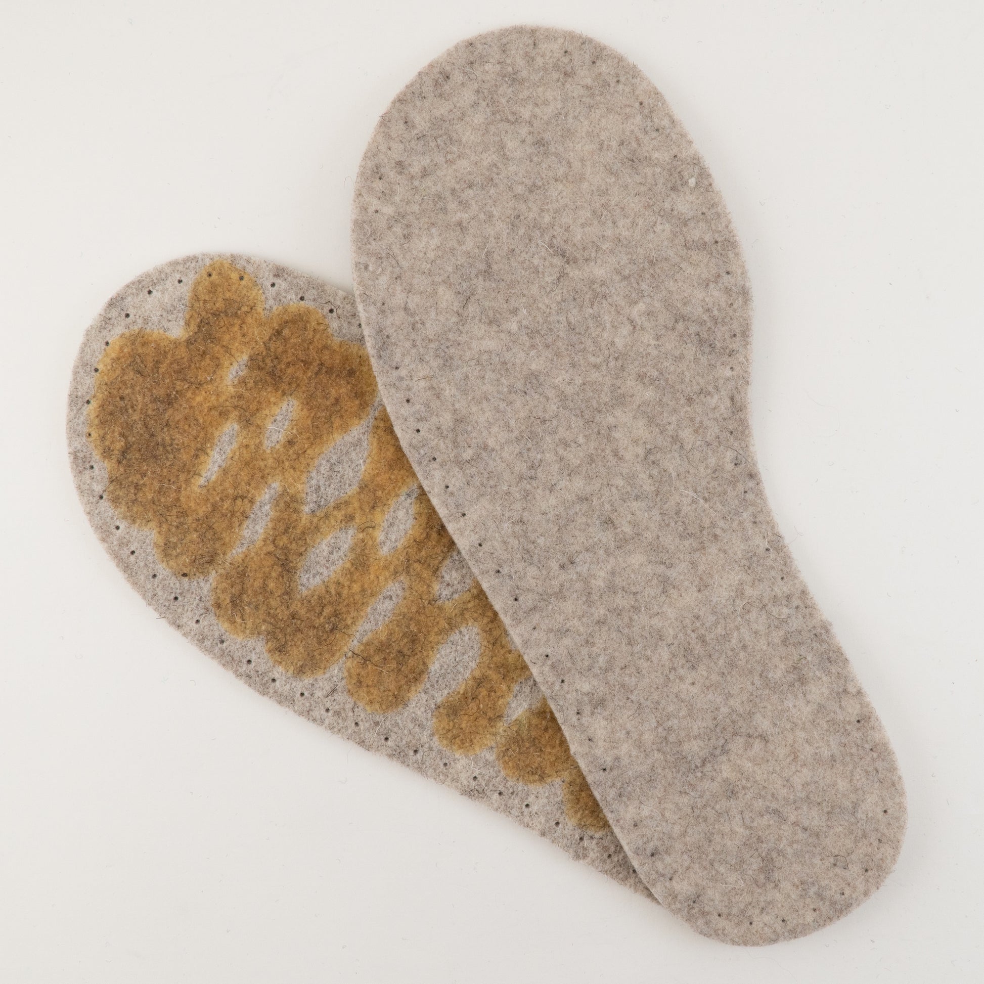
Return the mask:
[[[263,288],[268,315],[280,305],[303,300],[324,315],[336,338],[362,343],[355,304],[350,295],[315,277],[263,260],[242,256],[190,256],[156,267],[123,287],[106,303],[83,338],[68,400],[67,431],[73,476],[86,515],[109,556],[154,611],[254,690],[365,749],[386,755],[512,817],[573,857],[584,860],[633,891],[648,895],[611,830],[583,830],[568,819],[560,782],[530,785],[512,781],[503,774],[492,748],[476,755],[458,755],[438,742],[433,728],[435,707],[473,671],[478,658],[476,639],[471,631],[456,633],[440,648],[422,688],[407,703],[389,713],[370,712],[349,695],[343,672],[344,660],[339,660],[327,673],[313,678],[284,672],[271,661],[262,638],[237,638],[219,623],[213,604],[215,575],[179,577],[160,562],[154,548],[153,531],[126,523],[114,511],[107,494],[106,465],[95,454],[89,436],[88,401],[92,399],[97,378],[93,369],[100,364],[103,353],[111,350],[109,346],[114,339],[135,329],[177,337],[184,324],[193,281],[218,259],[227,260],[258,281]],[[237,365],[235,373],[248,368],[248,365],[245,368]],[[230,373],[230,378],[234,378],[235,373]],[[274,418],[272,426],[279,416]],[[319,461],[308,486],[312,512],[327,508],[358,482],[366,458],[366,431],[365,425],[355,428]],[[210,471],[214,468],[221,470],[223,464],[216,459],[223,457],[213,456],[209,469],[203,469],[203,482],[210,479]],[[148,476],[148,481],[152,480],[154,477]],[[259,500],[253,510],[234,554],[250,547],[270,521],[269,503],[266,514],[261,515],[267,498]],[[391,541],[400,539],[399,512],[399,509],[394,510],[394,522],[387,518],[380,531],[381,537]],[[402,528],[405,531],[405,523]],[[392,550],[395,546],[396,542],[391,542],[385,549]],[[312,551],[312,554],[316,552]],[[312,575],[303,570],[301,580],[305,577]],[[471,582],[471,573],[460,555],[453,554],[444,570],[441,596],[461,594]],[[305,585],[301,586],[303,589]],[[393,604],[387,607],[387,601],[395,601],[389,597],[391,594],[390,590],[384,592],[380,602],[370,610],[352,639],[353,649],[372,629],[389,618]],[[107,605],[107,617],[111,618],[111,599],[107,600]],[[140,649],[139,644],[136,648]],[[539,689],[531,680],[523,681],[506,712],[506,721],[516,719],[526,707],[534,707],[540,697]],[[395,824],[400,822],[399,818],[392,820]]]

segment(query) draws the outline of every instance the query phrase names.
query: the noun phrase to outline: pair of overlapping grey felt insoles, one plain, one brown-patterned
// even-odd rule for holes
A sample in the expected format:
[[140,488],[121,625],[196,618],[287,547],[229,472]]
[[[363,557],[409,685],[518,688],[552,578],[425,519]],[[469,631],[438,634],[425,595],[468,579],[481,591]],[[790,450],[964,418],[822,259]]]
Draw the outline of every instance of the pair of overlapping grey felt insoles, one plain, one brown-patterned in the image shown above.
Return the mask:
[[659,92],[568,31],[464,41],[381,119],[352,242],[358,307],[200,256],[92,325],[69,444],[131,583],[708,936],[874,892],[901,780],[769,512],[740,248]]

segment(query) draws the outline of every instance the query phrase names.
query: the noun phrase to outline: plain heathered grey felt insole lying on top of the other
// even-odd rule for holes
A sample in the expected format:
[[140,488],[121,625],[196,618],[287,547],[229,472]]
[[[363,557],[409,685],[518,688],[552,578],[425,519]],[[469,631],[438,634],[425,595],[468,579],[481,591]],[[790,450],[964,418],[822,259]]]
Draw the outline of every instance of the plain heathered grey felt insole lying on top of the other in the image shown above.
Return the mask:
[[380,120],[352,243],[403,450],[647,887],[738,944],[858,905],[902,781],[769,510],[741,249],[666,100],[571,31],[462,41]]

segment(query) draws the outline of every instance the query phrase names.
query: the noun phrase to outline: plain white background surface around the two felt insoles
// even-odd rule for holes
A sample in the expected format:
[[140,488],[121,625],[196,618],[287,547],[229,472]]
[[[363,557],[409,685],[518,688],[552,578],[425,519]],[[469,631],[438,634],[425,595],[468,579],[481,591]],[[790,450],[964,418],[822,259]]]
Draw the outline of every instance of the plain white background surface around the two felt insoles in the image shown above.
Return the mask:
[[[2,8],[0,979],[984,980],[981,4]],[[125,584],[76,500],[65,400],[103,301],[206,250],[350,288],[378,115],[517,22],[638,62],[745,246],[769,496],[909,796],[885,887],[803,940],[707,941],[261,699]]]

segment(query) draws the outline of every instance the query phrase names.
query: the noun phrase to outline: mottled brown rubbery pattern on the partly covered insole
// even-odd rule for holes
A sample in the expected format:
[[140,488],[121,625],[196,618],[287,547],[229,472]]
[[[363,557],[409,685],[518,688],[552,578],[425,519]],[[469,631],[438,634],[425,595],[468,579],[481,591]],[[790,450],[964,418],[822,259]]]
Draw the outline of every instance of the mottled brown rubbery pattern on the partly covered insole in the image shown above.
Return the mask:
[[[317,461],[373,408],[375,382],[362,346],[334,338],[306,304],[265,316],[253,278],[217,261],[192,286],[180,336],[124,333],[107,343],[95,375],[88,437],[106,464],[110,505],[154,530],[154,548],[172,572],[215,575],[212,602],[222,626],[239,638],[262,637],[273,662],[295,676],[322,675],[347,656],[349,693],[379,713],[403,707],[440,646],[473,626],[478,663],[437,707],[434,732],[461,755],[495,744],[529,669],[477,582],[438,598],[455,545],[418,491],[385,409],[372,421],[357,486],[322,509],[308,500]],[[229,433],[234,443],[216,465],[216,446]],[[413,491],[412,523],[384,551],[384,523]],[[269,518],[243,547],[265,496]],[[345,530],[351,538],[343,559],[303,589],[307,556]],[[353,645],[373,604],[398,581],[404,589],[390,617]],[[506,728],[507,746],[497,749],[505,773],[531,785],[561,780],[571,820],[603,830],[556,720],[549,708],[536,713],[533,731],[523,726],[525,714]],[[532,738],[518,741],[519,732]]]

